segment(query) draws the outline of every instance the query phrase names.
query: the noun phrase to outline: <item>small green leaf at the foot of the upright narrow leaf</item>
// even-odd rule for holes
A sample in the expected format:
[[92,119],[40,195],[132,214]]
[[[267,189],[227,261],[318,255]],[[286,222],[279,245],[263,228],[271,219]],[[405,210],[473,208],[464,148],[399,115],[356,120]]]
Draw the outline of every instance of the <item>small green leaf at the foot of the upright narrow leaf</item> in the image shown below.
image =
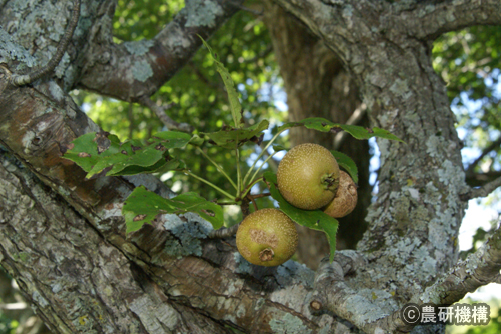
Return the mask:
[[257,141],[261,133],[268,129],[269,124],[268,120],[265,119],[245,129],[225,128],[218,132],[200,133],[200,137],[208,137],[217,146],[233,149],[248,141]]

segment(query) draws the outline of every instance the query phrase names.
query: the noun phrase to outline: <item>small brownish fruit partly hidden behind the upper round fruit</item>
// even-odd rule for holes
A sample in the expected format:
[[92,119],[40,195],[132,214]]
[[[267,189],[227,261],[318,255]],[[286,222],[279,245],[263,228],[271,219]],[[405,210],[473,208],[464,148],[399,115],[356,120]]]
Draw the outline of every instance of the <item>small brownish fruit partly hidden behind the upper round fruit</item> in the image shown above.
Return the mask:
[[331,217],[341,218],[351,213],[357,205],[357,186],[350,175],[341,171],[336,197],[324,209]]

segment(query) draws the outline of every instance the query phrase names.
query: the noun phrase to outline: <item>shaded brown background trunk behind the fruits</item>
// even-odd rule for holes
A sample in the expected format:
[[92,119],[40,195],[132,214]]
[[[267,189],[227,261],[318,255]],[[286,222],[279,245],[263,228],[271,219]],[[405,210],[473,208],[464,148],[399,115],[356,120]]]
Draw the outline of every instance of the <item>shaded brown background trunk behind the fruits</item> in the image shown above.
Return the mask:
[[[307,117],[323,117],[346,124],[358,109],[363,116],[357,125],[369,126],[367,114],[360,101],[358,88],[343,64],[325,43],[295,17],[270,2],[263,3],[263,20],[270,31],[273,49],[287,92],[290,121]],[[345,137],[336,142],[330,133],[297,127],[290,130],[291,146],[302,143],[320,144],[350,156],[359,171],[358,203],[355,210],[339,219],[337,248],[354,249],[367,228],[365,216],[370,205],[372,187],[369,185],[369,145],[367,141]],[[298,259],[316,269],[329,253],[325,234],[298,225]]]

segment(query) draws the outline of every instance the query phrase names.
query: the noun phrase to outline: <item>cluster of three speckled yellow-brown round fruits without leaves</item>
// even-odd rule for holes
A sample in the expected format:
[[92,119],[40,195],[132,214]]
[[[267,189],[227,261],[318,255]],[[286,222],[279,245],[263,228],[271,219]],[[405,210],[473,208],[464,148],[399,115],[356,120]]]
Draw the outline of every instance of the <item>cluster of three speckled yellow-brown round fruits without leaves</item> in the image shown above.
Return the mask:
[[[357,187],[350,175],[339,170],[334,156],[317,144],[292,148],[277,171],[280,194],[302,210],[323,210],[334,218],[353,211]],[[262,209],[248,215],[237,231],[237,248],[250,263],[278,266],[296,252],[298,234],[294,222],[278,209]]]

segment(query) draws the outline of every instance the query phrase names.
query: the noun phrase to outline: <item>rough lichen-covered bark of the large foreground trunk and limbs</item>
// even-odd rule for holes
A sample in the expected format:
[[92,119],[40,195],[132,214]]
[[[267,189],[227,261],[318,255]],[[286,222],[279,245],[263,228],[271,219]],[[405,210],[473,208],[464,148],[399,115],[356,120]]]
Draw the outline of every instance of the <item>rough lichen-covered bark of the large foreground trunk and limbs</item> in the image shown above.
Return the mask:
[[[109,20],[112,6],[84,2],[73,39],[78,47],[55,76],[16,87],[12,71],[50,58],[61,35],[51,33],[64,31],[68,8],[43,1],[30,11],[27,2],[23,8],[0,3],[0,144],[10,152],[0,155],[0,262],[51,329],[224,333],[227,324],[247,333],[407,332],[412,328],[398,312],[407,301],[452,303],[499,279],[499,230],[457,263],[457,233],[472,192],[445,86],[430,60],[440,33],[501,24],[499,1],[276,2],[342,60],[373,123],[406,142],[378,141],[380,193],[369,209],[369,229],[358,251],[337,252],[316,273],[293,261],[251,266],[234,240],[207,239],[210,225],[193,214],[160,216],[126,237],[120,209],[134,186],[168,191],[148,177],[86,181],[61,158],[71,140],[99,130],[67,91],[91,61],[84,55],[96,40],[84,36],[95,36],[87,33]],[[37,15],[53,25],[41,29]],[[156,80],[148,76],[140,86]]]

